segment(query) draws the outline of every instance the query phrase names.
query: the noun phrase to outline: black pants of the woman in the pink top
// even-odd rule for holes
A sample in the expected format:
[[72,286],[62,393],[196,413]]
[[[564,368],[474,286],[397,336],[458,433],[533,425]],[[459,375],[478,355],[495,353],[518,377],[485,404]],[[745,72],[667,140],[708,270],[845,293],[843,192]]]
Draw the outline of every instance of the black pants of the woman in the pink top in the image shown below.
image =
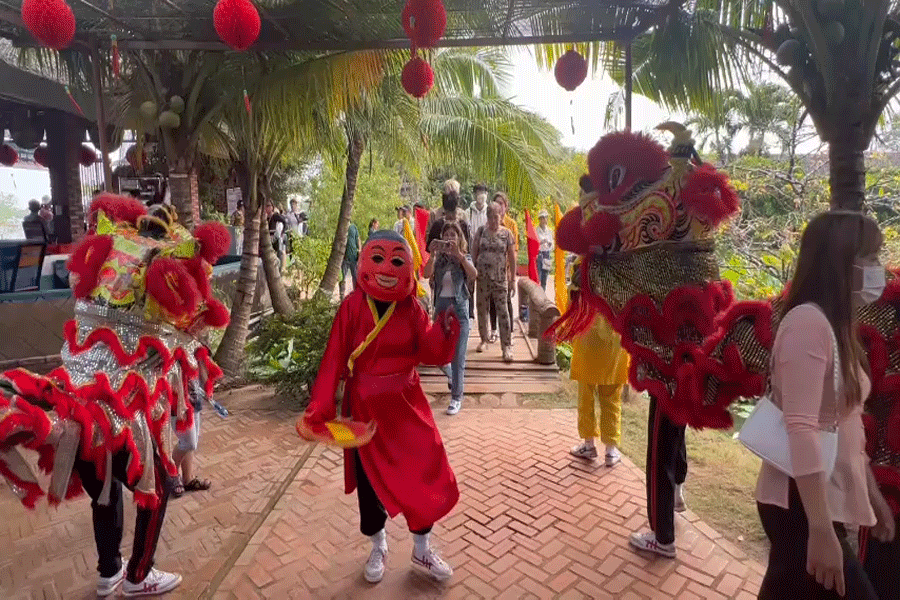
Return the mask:
[[[836,591],[826,590],[806,571],[809,523],[793,479],[788,506],[785,510],[772,504],[757,503],[763,529],[772,544],[769,550],[769,567],[759,589],[759,599],[838,600],[840,596]],[[844,550],[844,581],[847,586],[844,600],[878,600],[859,558],[847,544],[844,526],[836,524],[835,530]]]

